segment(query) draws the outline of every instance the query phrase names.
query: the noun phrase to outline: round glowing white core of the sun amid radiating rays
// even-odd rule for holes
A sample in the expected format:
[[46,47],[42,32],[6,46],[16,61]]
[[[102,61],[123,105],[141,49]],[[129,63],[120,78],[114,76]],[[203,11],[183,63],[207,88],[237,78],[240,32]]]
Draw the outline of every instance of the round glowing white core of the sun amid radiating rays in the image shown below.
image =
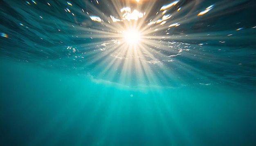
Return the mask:
[[124,31],[123,37],[124,37],[124,41],[129,45],[138,44],[141,39],[141,35],[140,35],[139,31],[137,31],[135,29],[128,29],[128,30]]

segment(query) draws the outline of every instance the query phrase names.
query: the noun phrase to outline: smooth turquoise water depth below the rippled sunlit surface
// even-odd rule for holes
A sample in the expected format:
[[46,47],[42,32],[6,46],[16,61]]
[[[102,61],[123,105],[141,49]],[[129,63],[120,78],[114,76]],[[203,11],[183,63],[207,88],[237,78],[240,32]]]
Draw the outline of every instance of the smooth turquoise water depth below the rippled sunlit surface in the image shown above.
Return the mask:
[[222,85],[137,90],[1,62],[3,145],[255,142],[255,92]]

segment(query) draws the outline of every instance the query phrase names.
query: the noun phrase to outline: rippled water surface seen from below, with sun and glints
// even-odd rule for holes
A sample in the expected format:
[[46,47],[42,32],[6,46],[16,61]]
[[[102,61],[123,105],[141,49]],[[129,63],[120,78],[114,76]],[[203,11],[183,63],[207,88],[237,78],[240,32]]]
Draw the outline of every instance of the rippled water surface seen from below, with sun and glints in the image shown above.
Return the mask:
[[252,86],[254,6],[250,0],[4,0],[1,55],[128,86]]

